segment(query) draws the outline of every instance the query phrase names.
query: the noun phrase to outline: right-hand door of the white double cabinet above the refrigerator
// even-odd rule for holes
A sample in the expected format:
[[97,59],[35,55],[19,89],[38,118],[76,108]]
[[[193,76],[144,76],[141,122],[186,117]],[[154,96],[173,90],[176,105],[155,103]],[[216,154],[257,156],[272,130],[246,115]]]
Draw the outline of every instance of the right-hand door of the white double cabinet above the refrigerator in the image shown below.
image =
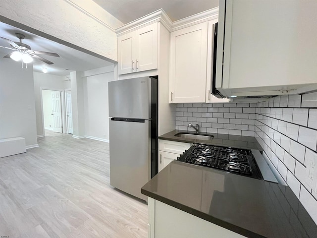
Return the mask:
[[135,72],[158,68],[158,23],[136,31]]

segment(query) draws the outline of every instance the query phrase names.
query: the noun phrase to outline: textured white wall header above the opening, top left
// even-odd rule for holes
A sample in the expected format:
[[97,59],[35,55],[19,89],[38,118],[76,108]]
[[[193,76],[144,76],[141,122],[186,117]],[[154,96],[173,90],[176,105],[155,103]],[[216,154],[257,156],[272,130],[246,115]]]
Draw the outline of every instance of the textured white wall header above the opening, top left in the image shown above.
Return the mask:
[[15,21],[0,18],[7,24],[22,23],[24,30],[117,61],[113,28],[122,23],[92,0],[1,0],[0,16]]

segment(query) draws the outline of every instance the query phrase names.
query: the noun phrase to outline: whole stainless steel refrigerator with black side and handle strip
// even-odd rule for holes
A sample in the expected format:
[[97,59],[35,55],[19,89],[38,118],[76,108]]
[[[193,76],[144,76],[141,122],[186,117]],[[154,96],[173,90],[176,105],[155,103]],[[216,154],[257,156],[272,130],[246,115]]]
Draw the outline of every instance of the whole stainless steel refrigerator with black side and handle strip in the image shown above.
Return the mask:
[[158,77],[108,83],[110,184],[147,200],[141,187],[158,173]]

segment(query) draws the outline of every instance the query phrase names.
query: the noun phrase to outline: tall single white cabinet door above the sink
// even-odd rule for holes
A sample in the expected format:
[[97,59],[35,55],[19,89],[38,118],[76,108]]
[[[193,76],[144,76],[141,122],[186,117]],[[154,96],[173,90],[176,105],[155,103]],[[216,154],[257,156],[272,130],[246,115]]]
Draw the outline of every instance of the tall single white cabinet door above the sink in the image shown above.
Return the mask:
[[208,22],[171,33],[170,103],[201,103],[206,96]]

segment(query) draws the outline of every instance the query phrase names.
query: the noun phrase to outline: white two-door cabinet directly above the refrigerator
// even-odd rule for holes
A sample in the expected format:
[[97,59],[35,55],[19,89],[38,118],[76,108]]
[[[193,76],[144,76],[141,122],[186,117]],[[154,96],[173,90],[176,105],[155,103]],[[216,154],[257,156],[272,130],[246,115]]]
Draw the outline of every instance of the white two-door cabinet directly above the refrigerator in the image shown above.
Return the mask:
[[158,68],[158,23],[118,36],[118,74]]

